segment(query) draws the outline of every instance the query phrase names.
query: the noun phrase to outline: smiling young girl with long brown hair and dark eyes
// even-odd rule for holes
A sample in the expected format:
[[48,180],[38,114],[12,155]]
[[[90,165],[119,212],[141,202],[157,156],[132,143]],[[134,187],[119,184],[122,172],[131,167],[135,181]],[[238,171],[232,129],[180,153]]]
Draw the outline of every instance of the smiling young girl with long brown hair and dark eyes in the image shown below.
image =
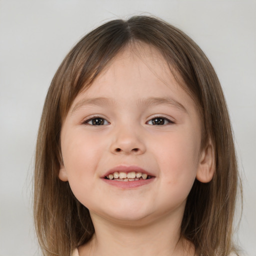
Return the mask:
[[49,87],[35,157],[44,255],[229,255],[237,166],[202,50],[149,16],[109,21]]

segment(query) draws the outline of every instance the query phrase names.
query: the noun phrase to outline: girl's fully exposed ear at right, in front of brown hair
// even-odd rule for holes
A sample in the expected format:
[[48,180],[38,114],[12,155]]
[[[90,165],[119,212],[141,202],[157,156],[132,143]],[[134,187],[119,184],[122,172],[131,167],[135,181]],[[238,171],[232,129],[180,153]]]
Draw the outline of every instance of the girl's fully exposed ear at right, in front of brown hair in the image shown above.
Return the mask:
[[214,174],[214,154],[213,146],[211,142],[201,151],[198,169],[196,172],[196,179],[200,182],[207,183],[209,182]]

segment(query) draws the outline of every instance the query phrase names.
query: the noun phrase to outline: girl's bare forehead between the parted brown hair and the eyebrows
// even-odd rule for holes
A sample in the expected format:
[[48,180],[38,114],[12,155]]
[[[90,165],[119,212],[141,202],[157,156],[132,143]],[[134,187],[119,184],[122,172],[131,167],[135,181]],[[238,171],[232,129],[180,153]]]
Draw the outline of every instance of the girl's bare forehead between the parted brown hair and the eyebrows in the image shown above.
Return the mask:
[[127,98],[165,97],[166,93],[175,101],[193,104],[162,54],[153,46],[137,42],[128,44],[114,56],[74,101],[97,96],[113,97],[125,103]]

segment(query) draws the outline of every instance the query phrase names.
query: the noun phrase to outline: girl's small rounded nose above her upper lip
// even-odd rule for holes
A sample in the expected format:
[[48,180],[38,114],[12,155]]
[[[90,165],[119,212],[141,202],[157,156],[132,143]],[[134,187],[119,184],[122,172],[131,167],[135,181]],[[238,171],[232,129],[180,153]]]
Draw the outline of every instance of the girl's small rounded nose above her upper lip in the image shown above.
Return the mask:
[[146,150],[143,137],[138,129],[119,127],[113,131],[110,150],[114,154],[143,154]]

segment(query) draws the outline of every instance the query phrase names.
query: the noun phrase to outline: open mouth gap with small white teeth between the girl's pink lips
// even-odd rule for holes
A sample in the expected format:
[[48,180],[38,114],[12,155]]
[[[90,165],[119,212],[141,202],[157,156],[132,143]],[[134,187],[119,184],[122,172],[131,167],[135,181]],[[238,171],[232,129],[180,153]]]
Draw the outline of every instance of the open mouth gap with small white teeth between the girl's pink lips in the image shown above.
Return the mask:
[[105,179],[111,179],[116,181],[134,181],[140,179],[150,179],[152,176],[139,171],[122,172],[115,171],[104,176]]

